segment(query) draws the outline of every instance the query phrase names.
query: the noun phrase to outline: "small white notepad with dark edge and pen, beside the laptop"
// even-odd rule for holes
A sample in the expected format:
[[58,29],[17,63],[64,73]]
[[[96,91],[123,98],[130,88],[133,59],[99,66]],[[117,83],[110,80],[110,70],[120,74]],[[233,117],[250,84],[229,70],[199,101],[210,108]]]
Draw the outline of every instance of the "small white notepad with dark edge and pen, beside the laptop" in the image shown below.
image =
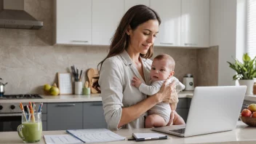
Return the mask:
[[167,135],[162,135],[159,133],[132,133],[132,137],[136,141],[145,141],[145,140],[166,140]]

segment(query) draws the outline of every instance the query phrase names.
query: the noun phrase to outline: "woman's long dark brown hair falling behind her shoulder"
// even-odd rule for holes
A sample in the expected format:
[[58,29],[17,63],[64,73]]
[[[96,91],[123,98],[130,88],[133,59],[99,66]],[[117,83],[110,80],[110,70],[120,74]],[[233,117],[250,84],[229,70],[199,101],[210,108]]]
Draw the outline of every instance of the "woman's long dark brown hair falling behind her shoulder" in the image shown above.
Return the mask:
[[[129,44],[129,36],[127,35],[126,31],[129,28],[129,26],[132,30],[135,30],[138,25],[145,23],[148,20],[158,20],[159,25],[161,23],[161,19],[159,15],[153,9],[145,5],[140,4],[128,9],[128,11],[121,18],[119,26],[116,28],[116,32],[113,35],[107,57],[105,57],[105,59],[102,60],[97,65],[98,70],[99,70],[99,66],[101,70],[101,67],[104,61],[108,57],[119,55],[121,52],[124,52],[124,49],[127,49]],[[145,58],[150,58],[152,57],[152,55],[153,55],[153,45],[148,49],[148,52],[145,55],[140,54],[141,57],[145,57]],[[99,73],[100,73],[100,70],[99,70]],[[100,89],[99,89],[100,85],[98,84],[99,78],[100,76],[95,77],[94,79],[97,79],[97,80],[92,85],[92,87],[97,89],[98,92],[100,92]]]

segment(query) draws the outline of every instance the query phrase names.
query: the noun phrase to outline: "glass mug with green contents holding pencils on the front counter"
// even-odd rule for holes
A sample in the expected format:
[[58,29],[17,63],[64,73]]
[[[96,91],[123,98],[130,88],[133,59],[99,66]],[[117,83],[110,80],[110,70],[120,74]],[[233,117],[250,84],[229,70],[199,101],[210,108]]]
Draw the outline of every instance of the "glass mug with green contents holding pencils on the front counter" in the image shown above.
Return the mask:
[[41,113],[22,115],[22,124],[17,127],[17,133],[23,143],[36,143],[41,140]]

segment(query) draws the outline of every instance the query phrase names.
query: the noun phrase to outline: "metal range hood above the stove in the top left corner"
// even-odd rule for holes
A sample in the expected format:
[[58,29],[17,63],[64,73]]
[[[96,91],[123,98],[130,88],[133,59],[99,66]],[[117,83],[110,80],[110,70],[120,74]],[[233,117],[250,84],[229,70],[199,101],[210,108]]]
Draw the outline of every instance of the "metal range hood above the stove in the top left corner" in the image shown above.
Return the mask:
[[0,28],[39,29],[41,27],[43,27],[42,21],[25,12],[24,0],[0,0]]

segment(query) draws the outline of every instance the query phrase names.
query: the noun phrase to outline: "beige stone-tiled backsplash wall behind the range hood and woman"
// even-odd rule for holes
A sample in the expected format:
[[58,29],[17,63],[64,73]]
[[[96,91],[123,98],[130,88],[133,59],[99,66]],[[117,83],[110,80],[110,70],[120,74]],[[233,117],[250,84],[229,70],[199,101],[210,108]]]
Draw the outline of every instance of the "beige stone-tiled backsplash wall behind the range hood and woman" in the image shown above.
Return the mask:
[[[52,0],[25,0],[25,10],[42,20],[44,27],[0,28],[0,77],[8,82],[6,94],[42,94],[44,84],[57,81],[57,72],[68,72],[71,65],[84,70],[96,68],[107,55],[106,46],[52,46]],[[217,48],[155,47],[154,52],[167,53],[175,59],[175,76],[180,81],[185,73],[192,73],[196,85],[217,84]]]

